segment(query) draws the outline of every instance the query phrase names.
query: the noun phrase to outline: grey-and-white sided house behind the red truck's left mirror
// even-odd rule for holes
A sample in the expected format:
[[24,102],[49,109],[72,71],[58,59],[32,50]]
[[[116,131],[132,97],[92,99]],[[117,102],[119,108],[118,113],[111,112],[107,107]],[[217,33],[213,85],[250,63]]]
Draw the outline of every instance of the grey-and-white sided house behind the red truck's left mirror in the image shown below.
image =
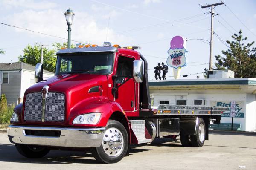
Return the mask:
[[[53,72],[43,71],[43,77]],[[24,92],[35,84],[35,66],[23,62],[0,63],[0,95],[5,94],[7,103],[15,105],[23,101]]]

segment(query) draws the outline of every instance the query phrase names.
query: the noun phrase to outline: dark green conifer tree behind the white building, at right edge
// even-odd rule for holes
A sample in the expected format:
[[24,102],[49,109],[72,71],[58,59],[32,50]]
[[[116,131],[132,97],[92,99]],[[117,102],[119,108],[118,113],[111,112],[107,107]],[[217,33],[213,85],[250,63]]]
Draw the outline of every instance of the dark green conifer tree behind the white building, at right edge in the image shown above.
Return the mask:
[[217,70],[230,69],[235,72],[235,78],[256,78],[256,48],[254,41],[245,43],[247,37],[243,37],[242,31],[232,35],[233,40],[227,40],[230,46],[226,51],[222,50],[221,57],[216,55],[215,66]]

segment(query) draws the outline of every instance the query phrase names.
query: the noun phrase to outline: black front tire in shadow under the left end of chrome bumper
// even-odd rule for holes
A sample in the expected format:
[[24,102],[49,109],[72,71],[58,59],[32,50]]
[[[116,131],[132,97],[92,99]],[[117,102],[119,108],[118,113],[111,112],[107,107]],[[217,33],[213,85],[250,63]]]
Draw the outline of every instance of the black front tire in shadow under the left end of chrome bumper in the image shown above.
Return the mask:
[[15,144],[15,147],[21,155],[27,158],[42,158],[50,151],[46,147],[35,145]]

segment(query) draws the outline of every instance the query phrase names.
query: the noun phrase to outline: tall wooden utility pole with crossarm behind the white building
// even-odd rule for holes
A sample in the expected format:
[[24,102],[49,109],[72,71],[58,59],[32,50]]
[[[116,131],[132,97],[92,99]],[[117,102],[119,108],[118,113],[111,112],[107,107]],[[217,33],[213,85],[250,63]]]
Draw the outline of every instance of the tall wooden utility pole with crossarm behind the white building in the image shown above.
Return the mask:
[[[221,1],[221,3],[214,3],[214,4],[209,4],[206,6],[201,6],[201,8],[209,8],[211,9],[211,40],[210,40],[210,66],[209,66],[209,70],[212,70],[212,41],[213,41],[213,15],[215,14],[213,12],[213,9],[215,8],[215,6],[218,5],[223,5],[224,3]],[[215,14],[218,15],[218,14]]]

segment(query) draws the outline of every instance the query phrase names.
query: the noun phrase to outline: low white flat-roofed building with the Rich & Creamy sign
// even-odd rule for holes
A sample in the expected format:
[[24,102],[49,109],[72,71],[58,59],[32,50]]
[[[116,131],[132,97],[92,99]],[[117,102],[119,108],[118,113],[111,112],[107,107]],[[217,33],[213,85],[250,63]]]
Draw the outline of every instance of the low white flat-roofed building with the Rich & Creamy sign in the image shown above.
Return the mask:
[[[234,123],[243,131],[256,131],[256,78],[180,79],[149,82],[152,105],[182,104],[230,108],[236,102]],[[231,123],[230,112],[221,123]]]

